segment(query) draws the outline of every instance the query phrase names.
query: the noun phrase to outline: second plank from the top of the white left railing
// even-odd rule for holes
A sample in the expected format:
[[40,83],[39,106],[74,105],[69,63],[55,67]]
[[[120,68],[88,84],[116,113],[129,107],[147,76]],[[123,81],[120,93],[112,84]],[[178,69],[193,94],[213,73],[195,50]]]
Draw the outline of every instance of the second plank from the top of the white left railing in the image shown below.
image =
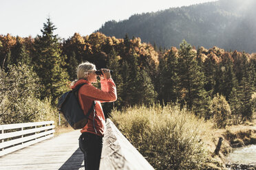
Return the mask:
[[50,129],[54,129],[54,125],[47,125],[44,127],[38,127],[38,128],[34,128],[34,129],[30,129],[30,130],[22,130],[22,131],[17,131],[17,132],[10,132],[10,133],[6,133],[6,134],[0,134],[0,140],[3,138],[12,138],[15,136],[21,136],[24,134],[32,134],[35,132],[40,132],[43,130],[50,130]]

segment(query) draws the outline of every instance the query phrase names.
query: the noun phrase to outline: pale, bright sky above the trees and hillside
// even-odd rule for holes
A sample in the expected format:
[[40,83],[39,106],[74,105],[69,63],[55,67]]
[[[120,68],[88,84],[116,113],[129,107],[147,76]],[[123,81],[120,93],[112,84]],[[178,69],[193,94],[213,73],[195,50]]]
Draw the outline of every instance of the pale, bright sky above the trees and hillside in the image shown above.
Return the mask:
[[0,0],[0,35],[34,38],[50,17],[58,37],[87,36],[107,21],[209,1],[216,0]]

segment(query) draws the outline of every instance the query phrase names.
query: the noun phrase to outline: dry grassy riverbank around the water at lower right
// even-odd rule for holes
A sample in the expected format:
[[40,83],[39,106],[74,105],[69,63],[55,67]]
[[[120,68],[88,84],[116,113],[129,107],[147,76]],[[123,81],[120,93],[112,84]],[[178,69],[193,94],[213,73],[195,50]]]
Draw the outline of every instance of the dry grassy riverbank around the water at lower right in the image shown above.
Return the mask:
[[[214,165],[217,167],[213,169],[255,169],[255,164],[233,161],[228,158],[229,154],[235,148],[246,147],[248,145],[256,145],[256,119],[250,123],[242,125],[226,126],[224,129],[217,129],[213,132],[213,145],[211,145],[211,152],[215,152],[217,143],[220,138],[223,138],[220,153],[213,154]],[[254,162],[254,160],[253,160]],[[243,164],[243,165],[242,165]]]

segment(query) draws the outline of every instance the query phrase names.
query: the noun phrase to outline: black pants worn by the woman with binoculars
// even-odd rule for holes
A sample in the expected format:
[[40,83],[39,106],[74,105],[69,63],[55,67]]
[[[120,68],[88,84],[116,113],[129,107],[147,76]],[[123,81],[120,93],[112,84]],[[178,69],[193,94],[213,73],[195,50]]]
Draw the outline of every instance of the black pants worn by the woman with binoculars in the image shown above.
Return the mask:
[[79,147],[85,156],[85,170],[98,170],[103,137],[85,132],[79,138]]

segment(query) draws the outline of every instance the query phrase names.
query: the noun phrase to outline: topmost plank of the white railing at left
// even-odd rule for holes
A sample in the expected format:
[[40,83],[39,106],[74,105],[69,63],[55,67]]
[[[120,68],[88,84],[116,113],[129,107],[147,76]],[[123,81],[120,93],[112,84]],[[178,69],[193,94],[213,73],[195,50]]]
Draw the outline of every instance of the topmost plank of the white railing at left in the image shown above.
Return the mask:
[[31,122],[31,123],[14,123],[8,125],[0,125],[0,130],[13,130],[21,127],[31,127],[37,125],[48,125],[54,124],[54,121],[40,121],[40,122]]

